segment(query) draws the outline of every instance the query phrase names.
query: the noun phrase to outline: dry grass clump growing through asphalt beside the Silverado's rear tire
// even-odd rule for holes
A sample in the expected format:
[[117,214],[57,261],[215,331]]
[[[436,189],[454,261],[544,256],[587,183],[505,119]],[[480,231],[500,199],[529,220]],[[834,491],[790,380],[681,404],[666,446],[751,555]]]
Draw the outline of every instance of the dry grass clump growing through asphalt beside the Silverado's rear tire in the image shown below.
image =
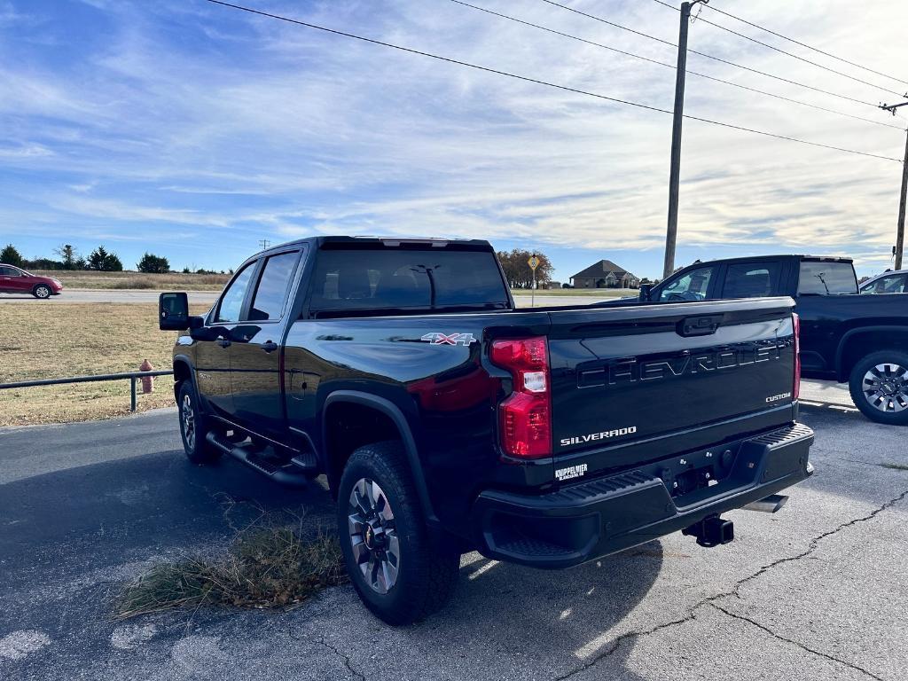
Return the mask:
[[222,556],[156,565],[123,587],[114,617],[173,608],[292,607],[324,587],[346,581],[337,538],[259,523],[241,532]]

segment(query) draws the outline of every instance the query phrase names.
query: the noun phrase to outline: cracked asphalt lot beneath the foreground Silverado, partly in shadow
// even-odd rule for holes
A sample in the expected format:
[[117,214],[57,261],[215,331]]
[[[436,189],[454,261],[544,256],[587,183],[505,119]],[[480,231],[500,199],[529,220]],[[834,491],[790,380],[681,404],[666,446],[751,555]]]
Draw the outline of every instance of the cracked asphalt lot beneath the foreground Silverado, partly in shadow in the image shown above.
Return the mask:
[[901,681],[908,470],[880,464],[908,464],[905,430],[803,418],[816,474],[775,516],[730,514],[731,545],[672,535],[562,572],[472,554],[454,602],[400,629],[349,587],[287,613],[110,621],[112,584],[221,546],[259,507],[328,522],[327,493],[189,466],[173,410],[0,429],[0,678]]

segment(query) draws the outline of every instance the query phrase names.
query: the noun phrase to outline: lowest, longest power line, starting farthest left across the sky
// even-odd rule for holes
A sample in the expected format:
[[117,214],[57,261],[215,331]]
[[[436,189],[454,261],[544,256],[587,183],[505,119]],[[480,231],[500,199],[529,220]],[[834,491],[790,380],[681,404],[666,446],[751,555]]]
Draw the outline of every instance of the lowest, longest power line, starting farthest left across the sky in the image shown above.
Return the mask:
[[[432,54],[430,52],[423,52],[422,50],[416,50],[416,49],[413,49],[412,47],[404,47],[399,44],[386,43],[384,41],[376,40],[374,38],[367,38],[362,35],[356,35],[356,34],[352,34],[352,33],[347,33],[346,31],[339,31],[334,28],[328,28],[326,26],[311,24],[309,22],[301,21],[300,19],[291,19],[288,16],[274,15],[274,14],[271,14],[270,12],[264,12],[262,10],[253,9],[252,7],[246,7],[244,5],[234,5],[233,3],[224,2],[223,0],[205,0],[205,2],[212,3],[213,5],[222,5],[224,7],[230,7],[232,9],[240,10],[242,12],[248,12],[252,15],[266,16],[268,18],[277,19],[278,21],[287,22],[289,24],[301,25],[301,26],[305,26],[307,28],[314,28],[316,30],[324,31],[325,33],[330,33],[332,35],[342,35],[343,37],[353,38],[354,40],[360,40],[364,43],[378,44],[383,47],[390,47],[391,49],[400,50],[401,52],[406,52],[406,53],[410,53],[410,54],[419,54],[420,56],[426,56],[431,59],[437,59],[441,62],[448,62],[449,64],[467,66],[468,68],[477,69],[479,71],[484,71],[489,74],[504,75],[504,76],[507,76],[508,78],[515,78],[519,81],[524,81],[525,83],[535,83],[538,85],[545,85],[547,87],[552,87],[552,88],[555,88],[558,90],[563,90],[563,91],[569,92],[569,93],[583,94],[588,97],[596,97],[597,99],[605,100],[607,102],[614,102],[616,104],[626,104],[627,106],[634,106],[638,109],[646,109],[647,111],[655,111],[659,114],[669,114],[669,115],[672,114],[671,111],[669,111],[667,109],[661,109],[657,106],[650,106],[649,104],[640,104],[639,102],[631,102],[629,100],[619,99],[617,97],[609,97],[606,94],[591,93],[587,90],[580,90],[576,87],[569,87],[568,85],[550,83],[548,81],[539,80],[538,78],[530,78],[526,75],[511,74],[511,73],[508,73],[507,71],[500,71],[498,69],[494,69],[489,66],[482,66],[480,64],[470,64],[469,62],[463,62],[463,61],[460,61],[459,59],[453,59],[451,57],[441,56],[440,54]],[[824,143],[819,143],[819,142],[808,142],[807,140],[801,140],[796,137],[788,137],[786,135],[776,134],[776,133],[767,133],[763,130],[745,128],[744,126],[741,126],[741,125],[735,125],[733,123],[722,123],[721,121],[713,121],[711,119],[700,118],[698,116],[685,115],[685,118],[689,118],[692,121],[699,121],[701,123],[710,123],[712,125],[718,125],[718,126],[721,126],[724,128],[730,128],[732,130],[739,130],[739,131],[743,131],[746,133],[759,134],[759,135],[763,135],[765,137],[773,137],[773,138],[779,139],[779,140],[787,140],[788,142],[796,142],[796,143],[801,143],[801,144],[807,144],[809,146],[820,147],[823,149],[831,149],[836,152],[853,153],[858,156],[868,156],[870,158],[882,159],[883,161],[894,161],[896,163],[902,163],[901,159],[893,158],[892,156],[883,156],[882,154],[879,154],[879,153],[859,152],[854,149],[846,149],[844,147],[834,146],[832,144],[824,144]]]

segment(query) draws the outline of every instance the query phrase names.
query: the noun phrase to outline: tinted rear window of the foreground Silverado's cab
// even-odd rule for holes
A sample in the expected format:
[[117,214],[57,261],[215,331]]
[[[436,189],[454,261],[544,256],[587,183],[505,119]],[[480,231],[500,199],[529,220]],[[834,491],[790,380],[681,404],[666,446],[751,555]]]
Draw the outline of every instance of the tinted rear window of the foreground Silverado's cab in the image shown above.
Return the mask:
[[312,277],[312,311],[508,306],[489,251],[322,250]]

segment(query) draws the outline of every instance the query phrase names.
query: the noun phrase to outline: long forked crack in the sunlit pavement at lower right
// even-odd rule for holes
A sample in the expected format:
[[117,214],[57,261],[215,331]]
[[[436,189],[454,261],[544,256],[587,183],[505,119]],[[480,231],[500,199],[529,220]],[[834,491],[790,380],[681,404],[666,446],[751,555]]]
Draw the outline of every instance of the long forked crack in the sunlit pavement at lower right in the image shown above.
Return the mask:
[[769,564],[763,566],[762,568],[758,569],[755,573],[748,575],[747,577],[742,577],[737,582],[735,582],[735,587],[731,591],[723,591],[721,593],[718,593],[713,596],[703,598],[700,601],[697,601],[696,604],[694,604],[694,606],[692,606],[687,611],[687,614],[685,617],[681,617],[680,619],[672,620],[671,622],[665,622],[664,624],[658,625],[657,627],[644,629],[642,631],[629,631],[626,634],[622,634],[621,636],[619,636],[615,639],[614,646],[607,648],[607,650],[602,651],[597,656],[591,657],[589,660],[587,660],[587,662],[585,662],[581,666],[578,666],[577,668],[569,671],[567,674],[563,674],[561,676],[555,676],[553,681],[565,681],[566,679],[571,678],[572,676],[577,676],[577,674],[579,674],[580,672],[586,671],[590,667],[597,666],[597,664],[599,662],[601,662],[602,660],[607,659],[609,656],[614,655],[617,652],[617,649],[619,647],[621,647],[621,644],[623,644],[628,639],[637,639],[637,638],[641,638],[641,637],[647,637],[647,636],[650,636],[651,634],[655,634],[656,632],[661,631],[662,629],[667,629],[669,627],[676,627],[678,625],[686,624],[687,622],[690,622],[690,621],[696,619],[696,611],[704,606],[716,607],[716,609],[721,610],[722,612],[725,612],[726,615],[729,615],[731,617],[737,617],[738,619],[742,619],[746,622],[750,622],[751,624],[755,625],[755,627],[760,627],[761,629],[765,630],[767,633],[778,638],[779,640],[791,643],[795,646],[800,647],[804,651],[807,651],[809,653],[814,653],[814,655],[825,657],[830,660],[833,660],[834,662],[838,662],[842,665],[852,667],[856,671],[864,672],[864,674],[866,674],[867,676],[871,676],[874,679],[879,679],[879,681],[883,681],[883,679],[881,679],[879,676],[873,675],[871,672],[868,672],[867,670],[865,670],[864,668],[862,668],[860,666],[854,665],[853,663],[847,662],[842,659],[838,659],[833,656],[826,655],[825,653],[821,653],[819,651],[808,648],[802,644],[799,644],[796,641],[776,635],[775,632],[771,631],[770,629],[764,627],[763,625],[759,624],[758,622],[756,622],[754,620],[751,620],[751,619],[748,619],[748,618],[742,617],[742,616],[733,615],[732,613],[726,611],[725,608],[716,606],[715,602],[717,600],[720,600],[720,599],[726,598],[726,597],[731,597],[731,596],[740,597],[738,594],[741,590],[741,587],[743,587],[748,582],[756,579],[757,577],[762,577],[767,572],[769,572],[770,570],[772,570],[774,568],[777,568],[780,565],[784,565],[785,563],[791,563],[791,562],[795,562],[798,560],[802,560],[804,558],[808,558],[812,553],[814,553],[814,551],[819,547],[820,542],[823,541],[825,538],[832,537],[833,535],[838,534],[839,532],[842,532],[844,529],[854,527],[854,525],[857,525],[858,523],[863,523],[863,522],[867,522],[869,520],[873,520],[873,518],[876,518],[878,515],[883,513],[884,510],[887,510],[888,508],[892,508],[900,501],[903,501],[903,499],[906,497],[908,497],[908,489],[903,491],[897,497],[891,498],[889,501],[886,501],[885,503],[883,503],[883,505],[881,505],[877,508],[874,508],[873,511],[871,511],[866,516],[862,516],[860,518],[853,518],[853,519],[849,520],[848,522],[842,523],[841,525],[837,526],[836,528],[827,530],[826,532],[823,532],[822,534],[817,535],[816,537],[814,537],[813,539],[810,540],[810,543],[807,545],[807,548],[804,549],[804,551],[802,551],[801,553],[796,554],[795,556],[788,556],[785,558],[779,558],[778,560],[774,560],[772,563],[769,563]]

